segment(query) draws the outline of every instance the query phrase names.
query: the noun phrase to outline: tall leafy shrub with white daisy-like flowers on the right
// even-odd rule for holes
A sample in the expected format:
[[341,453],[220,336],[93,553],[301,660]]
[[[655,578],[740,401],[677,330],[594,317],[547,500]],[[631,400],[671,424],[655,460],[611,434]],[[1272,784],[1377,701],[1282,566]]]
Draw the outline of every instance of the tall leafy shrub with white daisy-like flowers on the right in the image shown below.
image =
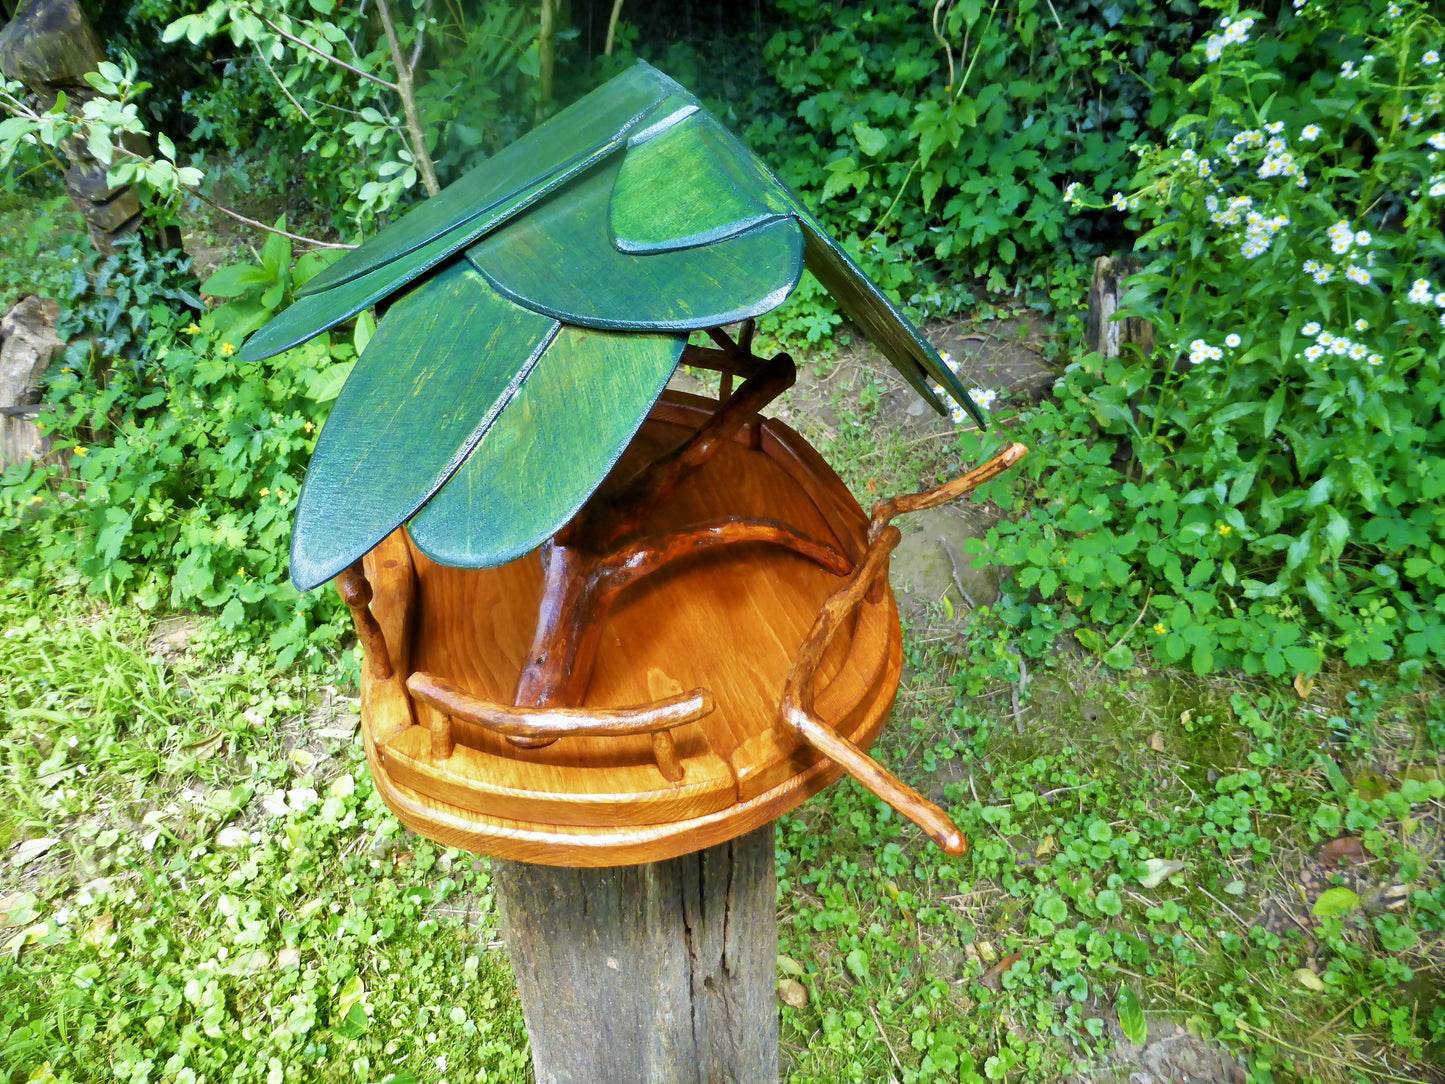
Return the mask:
[[[1129,195],[1159,347],[1071,366],[1025,421],[1036,507],[988,543],[1042,603],[1207,672],[1445,658],[1445,78],[1389,0],[1237,10]],[[1298,74],[1299,78],[1290,78]],[[1090,197],[1075,198],[1088,204]],[[1101,201],[1100,201],[1101,202]]]

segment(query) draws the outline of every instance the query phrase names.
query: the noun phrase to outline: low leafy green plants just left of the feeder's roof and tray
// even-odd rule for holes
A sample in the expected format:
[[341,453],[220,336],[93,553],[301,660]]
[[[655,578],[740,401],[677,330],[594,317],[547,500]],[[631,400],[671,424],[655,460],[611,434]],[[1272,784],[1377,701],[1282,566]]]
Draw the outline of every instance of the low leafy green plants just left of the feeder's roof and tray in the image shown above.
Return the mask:
[[[171,254],[124,247],[78,269],[62,319],[79,335],[49,374],[40,423],[55,451],[0,477],[0,528],[13,559],[74,565],[94,591],[144,607],[260,620],[282,662],[319,665],[345,626],[327,594],[286,578],[290,516],[327,405],[355,357],[322,335],[263,363],[236,347],[327,260],[272,234],[259,264],[218,270],[228,296],[198,315]],[[295,278],[293,278],[295,276]],[[197,302],[198,305],[198,302]],[[364,337],[368,321],[358,324]]]

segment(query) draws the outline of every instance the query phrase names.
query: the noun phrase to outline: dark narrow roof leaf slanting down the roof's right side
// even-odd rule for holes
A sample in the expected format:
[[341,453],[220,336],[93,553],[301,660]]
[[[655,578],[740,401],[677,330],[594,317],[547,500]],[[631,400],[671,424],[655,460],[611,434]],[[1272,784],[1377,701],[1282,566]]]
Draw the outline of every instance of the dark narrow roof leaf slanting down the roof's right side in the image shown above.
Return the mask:
[[948,392],[980,428],[987,425],[983,410],[968,396],[957,376],[944,364],[938,351],[915,328],[897,306],[887,299],[853,257],[844,251],[816,218],[806,211],[799,215],[806,243],[803,260],[822,288],[832,295],[844,314],[863,328],[873,345],[893,363],[913,390],[923,396],[939,413],[946,413],[944,405],[928,386],[932,377]]

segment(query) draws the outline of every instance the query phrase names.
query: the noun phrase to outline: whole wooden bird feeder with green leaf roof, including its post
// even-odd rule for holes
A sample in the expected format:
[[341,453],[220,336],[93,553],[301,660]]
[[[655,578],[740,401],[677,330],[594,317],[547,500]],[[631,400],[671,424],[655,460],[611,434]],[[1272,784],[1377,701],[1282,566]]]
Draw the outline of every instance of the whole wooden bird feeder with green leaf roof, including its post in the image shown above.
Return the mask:
[[[864,513],[806,441],[760,413],[795,371],[786,354],[754,356],[753,319],[803,267],[926,400],[942,410],[938,382],[983,423],[798,198],[644,64],[348,253],[243,351],[266,357],[390,299],[318,441],[292,577],[302,590],[335,578],[351,608],[387,805],[423,835],[527,864],[499,864],[497,882],[539,1080],[692,1078],[663,1062],[763,1080],[769,1057],[776,1077],[767,828],[844,772],[949,853],[965,848],[942,809],[867,754],[902,669],[890,520],[1025,449]],[[688,344],[691,331],[712,345]],[[679,363],[722,373],[720,399],[665,392]],[[762,976],[764,994],[747,996],[763,1028],[762,1061],[741,1058],[751,1068],[738,1049],[756,1038],[699,1038],[709,984],[678,1012],[656,1003],[670,950],[636,942],[670,935],[618,934],[626,965],[598,948],[652,913],[639,900],[660,898],[666,860],[701,854],[708,896],[722,882],[707,856],[740,840],[751,851],[727,861],[751,870],[747,928],[764,944],[747,980]],[[600,880],[536,869],[639,863],[655,873],[614,877],[610,905]],[[695,980],[702,912],[741,905],[731,873],[721,911],[686,903],[692,874],[669,876],[692,911],[676,955]],[[558,955],[579,911],[610,919]],[[727,978],[738,950],[718,937]],[[633,1016],[686,1015],[691,1052],[643,1023],[650,1038],[621,1044],[631,1061],[603,1044],[614,1071],[556,1068],[552,1033],[590,1015],[616,1028],[639,986],[656,996]],[[585,1005],[559,1010],[561,987]],[[736,1032],[736,1016],[727,1007],[717,1029]]]

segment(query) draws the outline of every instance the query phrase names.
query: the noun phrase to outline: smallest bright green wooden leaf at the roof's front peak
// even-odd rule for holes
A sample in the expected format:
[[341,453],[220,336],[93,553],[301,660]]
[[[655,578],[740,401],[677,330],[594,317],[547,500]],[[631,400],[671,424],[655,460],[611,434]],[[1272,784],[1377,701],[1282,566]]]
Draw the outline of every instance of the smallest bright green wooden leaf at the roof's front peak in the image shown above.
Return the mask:
[[[779,217],[757,194],[762,179],[720,139],[721,127],[692,113],[663,130],[643,129],[611,192],[617,247],[629,253],[672,251],[736,237]],[[744,155],[747,152],[743,152]]]

